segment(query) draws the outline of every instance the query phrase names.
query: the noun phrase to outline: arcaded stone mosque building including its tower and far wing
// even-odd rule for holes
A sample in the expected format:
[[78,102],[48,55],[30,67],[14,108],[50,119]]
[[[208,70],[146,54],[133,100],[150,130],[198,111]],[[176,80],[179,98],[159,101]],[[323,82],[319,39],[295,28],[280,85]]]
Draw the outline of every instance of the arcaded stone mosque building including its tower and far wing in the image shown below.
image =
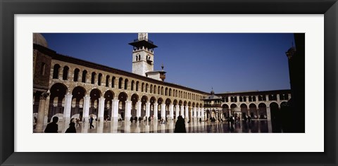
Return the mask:
[[291,98],[291,91],[245,91],[215,94],[165,82],[154,70],[154,49],[147,33],[132,46],[132,72],[64,56],[48,48],[42,34],[33,34],[33,117],[41,132],[52,117],[87,121],[225,118],[229,115],[270,120]]

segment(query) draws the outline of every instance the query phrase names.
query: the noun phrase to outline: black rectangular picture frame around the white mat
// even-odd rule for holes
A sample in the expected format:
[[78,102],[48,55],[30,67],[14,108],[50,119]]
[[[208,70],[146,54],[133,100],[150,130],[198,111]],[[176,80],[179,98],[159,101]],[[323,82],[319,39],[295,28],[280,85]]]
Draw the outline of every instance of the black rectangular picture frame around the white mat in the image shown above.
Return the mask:
[[[337,0],[0,0],[1,165],[337,165]],[[15,14],[324,14],[324,153],[14,152]],[[143,148],[146,146],[139,145]],[[311,146],[311,145],[309,145]]]

